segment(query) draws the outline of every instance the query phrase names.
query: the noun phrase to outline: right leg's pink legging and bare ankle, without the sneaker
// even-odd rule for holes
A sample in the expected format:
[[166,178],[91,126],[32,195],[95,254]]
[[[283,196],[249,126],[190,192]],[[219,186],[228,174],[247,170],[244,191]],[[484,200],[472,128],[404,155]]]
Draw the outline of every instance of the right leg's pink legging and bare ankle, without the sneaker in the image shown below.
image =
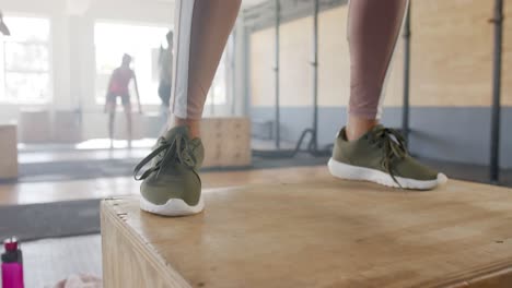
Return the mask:
[[351,0],[350,103],[347,137],[357,140],[379,123],[386,77],[408,0]]

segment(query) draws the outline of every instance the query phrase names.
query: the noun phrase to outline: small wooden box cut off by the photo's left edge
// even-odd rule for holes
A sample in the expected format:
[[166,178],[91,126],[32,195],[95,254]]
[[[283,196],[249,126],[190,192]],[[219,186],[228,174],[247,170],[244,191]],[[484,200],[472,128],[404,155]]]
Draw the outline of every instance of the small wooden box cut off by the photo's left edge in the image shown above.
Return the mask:
[[18,135],[15,124],[0,124],[0,179],[18,178]]

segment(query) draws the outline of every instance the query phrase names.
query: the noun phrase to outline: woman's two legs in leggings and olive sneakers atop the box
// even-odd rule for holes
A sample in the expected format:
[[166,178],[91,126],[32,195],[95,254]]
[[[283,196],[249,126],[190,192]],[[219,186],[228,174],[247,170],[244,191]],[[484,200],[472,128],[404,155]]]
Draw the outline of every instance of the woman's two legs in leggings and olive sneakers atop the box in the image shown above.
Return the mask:
[[[203,159],[200,119],[206,96],[241,0],[177,0],[176,60],[170,130],[135,169],[140,207],[165,216],[199,213],[205,204],[198,170]],[[402,135],[380,124],[384,79],[408,5],[407,0],[349,2],[350,101],[348,122],[328,168],[334,177],[429,190],[446,177],[414,159]],[[151,167],[139,176],[143,166]]]

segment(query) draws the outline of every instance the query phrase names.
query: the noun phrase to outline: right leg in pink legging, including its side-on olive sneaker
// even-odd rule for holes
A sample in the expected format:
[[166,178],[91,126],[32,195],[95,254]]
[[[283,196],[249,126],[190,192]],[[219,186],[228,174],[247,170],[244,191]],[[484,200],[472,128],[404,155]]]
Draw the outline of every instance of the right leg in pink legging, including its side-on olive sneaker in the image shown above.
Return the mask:
[[328,163],[333,176],[428,190],[446,176],[414,159],[405,140],[379,124],[383,89],[407,0],[352,0],[349,7],[350,103]]

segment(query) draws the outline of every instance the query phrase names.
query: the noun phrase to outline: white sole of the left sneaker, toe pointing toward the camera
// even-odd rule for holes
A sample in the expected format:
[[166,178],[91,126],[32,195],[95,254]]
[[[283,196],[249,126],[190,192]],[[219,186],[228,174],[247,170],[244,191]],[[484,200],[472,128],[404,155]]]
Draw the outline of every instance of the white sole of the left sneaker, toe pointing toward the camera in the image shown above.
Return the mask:
[[141,196],[140,208],[142,211],[162,216],[177,217],[200,213],[205,208],[205,202],[201,195],[199,202],[195,206],[188,205],[185,201],[181,199],[171,199],[167,201],[167,203],[163,205],[155,205]]

